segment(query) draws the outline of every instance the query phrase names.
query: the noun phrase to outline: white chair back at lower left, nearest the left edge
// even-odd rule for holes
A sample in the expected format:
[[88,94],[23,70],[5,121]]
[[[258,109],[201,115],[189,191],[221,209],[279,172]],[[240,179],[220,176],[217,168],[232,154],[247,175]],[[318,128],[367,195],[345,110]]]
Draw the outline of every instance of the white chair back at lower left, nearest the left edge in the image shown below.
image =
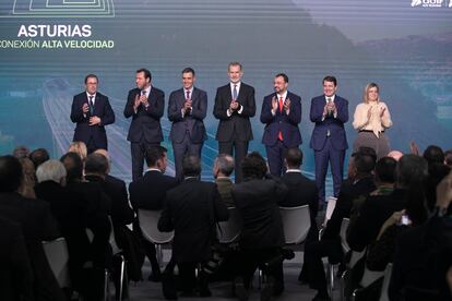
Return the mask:
[[43,241],[44,252],[46,253],[47,261],[50,268],[53,272],[55,278],[61,288],[71,287],[71,280],[69,277],[69,253],[68,244],[64,238],[58,238],[52,241]]

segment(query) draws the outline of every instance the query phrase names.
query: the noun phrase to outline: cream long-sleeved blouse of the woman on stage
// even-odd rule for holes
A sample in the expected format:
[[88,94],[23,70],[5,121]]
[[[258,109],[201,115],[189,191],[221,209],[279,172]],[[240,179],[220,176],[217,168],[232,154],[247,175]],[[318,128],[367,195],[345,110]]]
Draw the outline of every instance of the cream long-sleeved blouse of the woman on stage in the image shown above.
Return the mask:
[[[370,118],[367,116],[369,108],[371,110]],[[384,110],[384,113],[381,117],[382,110]],[[355,128],[355,130],[372,131],[378,137],[384,129],[388,129],[391,125],[391,113],[384,103],[369,101],[368,104],[362,103],[356,106],[353,120],[353,128]]]

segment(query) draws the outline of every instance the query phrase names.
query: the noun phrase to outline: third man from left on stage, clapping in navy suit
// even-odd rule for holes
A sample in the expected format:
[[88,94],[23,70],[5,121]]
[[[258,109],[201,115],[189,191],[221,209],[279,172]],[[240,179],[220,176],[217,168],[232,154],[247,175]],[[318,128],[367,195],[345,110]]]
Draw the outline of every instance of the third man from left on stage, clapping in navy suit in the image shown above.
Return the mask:
[[175,155],[176,179],[182,180],[182,159],[189,155],[201,158],[201,149],[207,139],[204,118],[207,111],[207,94],[194,87],[194,70],[182,70],[182,88],[169,95],[168,119],[173,122],[169,139]]

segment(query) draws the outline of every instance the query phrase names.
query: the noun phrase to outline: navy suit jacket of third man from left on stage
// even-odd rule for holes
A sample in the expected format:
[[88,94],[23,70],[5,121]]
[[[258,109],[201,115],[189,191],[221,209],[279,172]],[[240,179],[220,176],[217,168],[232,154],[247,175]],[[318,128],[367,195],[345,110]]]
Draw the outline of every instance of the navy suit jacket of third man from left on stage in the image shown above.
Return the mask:
[[191,100],[191,112],[186,113],[182,118],[181,109],[186,103],[183,88],[177,89],[169,95],[168,119],[173,122],[169,139],[174,143],[181,143],[187,131],[192,143],[201,143],[207,139],[203,122],[207,112],[207,94],[202,89],[193,87]]

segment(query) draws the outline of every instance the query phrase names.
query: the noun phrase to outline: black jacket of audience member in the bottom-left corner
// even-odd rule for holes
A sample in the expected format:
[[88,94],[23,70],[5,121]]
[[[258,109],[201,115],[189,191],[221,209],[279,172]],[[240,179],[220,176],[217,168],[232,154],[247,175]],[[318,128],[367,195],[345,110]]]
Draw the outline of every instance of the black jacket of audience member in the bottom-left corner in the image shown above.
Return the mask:
[[0,300],[34,300],[33,269],[21,225],[0,217]]

